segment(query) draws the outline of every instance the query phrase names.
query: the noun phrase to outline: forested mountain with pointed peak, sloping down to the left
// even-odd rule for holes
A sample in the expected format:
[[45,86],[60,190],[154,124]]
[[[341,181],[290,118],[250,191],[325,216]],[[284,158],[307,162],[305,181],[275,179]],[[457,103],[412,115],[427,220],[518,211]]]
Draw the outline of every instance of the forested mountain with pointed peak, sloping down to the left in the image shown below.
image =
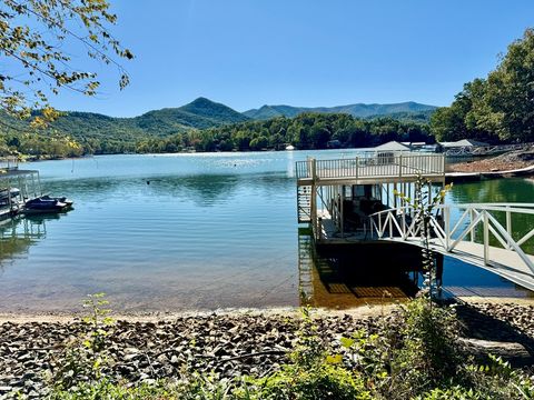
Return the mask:
[[132,152],[136,143],[147,138],[248,120],[240,112],[205,98],[134,118],[67,111],[46,130],[31,129],[29,121],[0,113],[0,154],[9,153],[10,148],[37,157]]

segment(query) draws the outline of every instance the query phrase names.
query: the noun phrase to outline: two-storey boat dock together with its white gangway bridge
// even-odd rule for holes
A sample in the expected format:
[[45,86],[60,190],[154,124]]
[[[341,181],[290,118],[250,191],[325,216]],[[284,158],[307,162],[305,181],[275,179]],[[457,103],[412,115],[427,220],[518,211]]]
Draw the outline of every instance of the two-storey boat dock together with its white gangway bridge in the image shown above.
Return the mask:
[[[296,176],[298,222],[309,224],[317,249],[372,243],[421,247],[416,211],[397,193],[412,198],[423,177],[428,196],[434,197],[447,178],[444,154],[414,152],[308,158],[296,163]],[[517,218],[528,220],[523,231],[515,227]],[[534,290],[534,254],[526,246],[534,240],[534,203],[441,204],[431,224],[436,253]]]

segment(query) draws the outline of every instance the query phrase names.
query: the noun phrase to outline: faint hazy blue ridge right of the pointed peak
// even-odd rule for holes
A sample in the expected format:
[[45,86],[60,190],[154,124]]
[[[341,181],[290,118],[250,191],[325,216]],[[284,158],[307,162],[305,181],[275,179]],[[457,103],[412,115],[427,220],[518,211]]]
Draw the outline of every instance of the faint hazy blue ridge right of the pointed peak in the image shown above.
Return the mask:
[[413,101],[393,104],[347,104],[336,107],[291,107],[291,106],[264,106],[260,109],[245,111],[244,114],[255,120],[265,120],[274,117],[293,118],[303,112],[347,113],[357,118],[386,117],[392,114],[417,114],[432,112],[434,106],[421,104]]

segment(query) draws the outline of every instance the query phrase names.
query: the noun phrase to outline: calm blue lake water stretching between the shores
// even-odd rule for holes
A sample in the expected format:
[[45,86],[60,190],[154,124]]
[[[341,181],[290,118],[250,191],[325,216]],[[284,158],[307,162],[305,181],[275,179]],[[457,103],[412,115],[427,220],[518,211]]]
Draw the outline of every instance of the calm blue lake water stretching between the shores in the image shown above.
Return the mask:
[[[28,163],[23,168],[40,171],[46,192],[68,196],[75,209],[0,228],[0,311],[68,311],[97,291],[107,292],[120,311],[298,306],[301,280],[315,280],[322,306],[379,299],[367,281],[352,278],[348,292],[336,292],[317,269],[304,268],[310,254],[296,222],[295,161],[355,153],[102,156]],[[527,202],[533,193],[532,181],[496,180],[456,184],[448,201]],[[444,282],[458,294],[530,296],[452,259],[445,261]],[[385,287],[396,290],[389,282]]]

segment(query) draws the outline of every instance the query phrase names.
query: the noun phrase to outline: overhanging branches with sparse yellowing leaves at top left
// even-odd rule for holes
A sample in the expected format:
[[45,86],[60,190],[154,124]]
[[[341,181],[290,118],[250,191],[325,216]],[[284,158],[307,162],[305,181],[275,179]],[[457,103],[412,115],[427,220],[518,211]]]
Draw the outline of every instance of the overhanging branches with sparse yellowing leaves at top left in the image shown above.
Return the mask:
[[62,89],[96,94],[97,73],[73,67],[76,49],[115,66],[119,87],[126,87],[128,73],[116,58],[134,56],[110,33],[116,21],[106,0],[1,0],[0,108],[22,118],[42,109],[34,118],[39,123],[57,117],[50,94]]

